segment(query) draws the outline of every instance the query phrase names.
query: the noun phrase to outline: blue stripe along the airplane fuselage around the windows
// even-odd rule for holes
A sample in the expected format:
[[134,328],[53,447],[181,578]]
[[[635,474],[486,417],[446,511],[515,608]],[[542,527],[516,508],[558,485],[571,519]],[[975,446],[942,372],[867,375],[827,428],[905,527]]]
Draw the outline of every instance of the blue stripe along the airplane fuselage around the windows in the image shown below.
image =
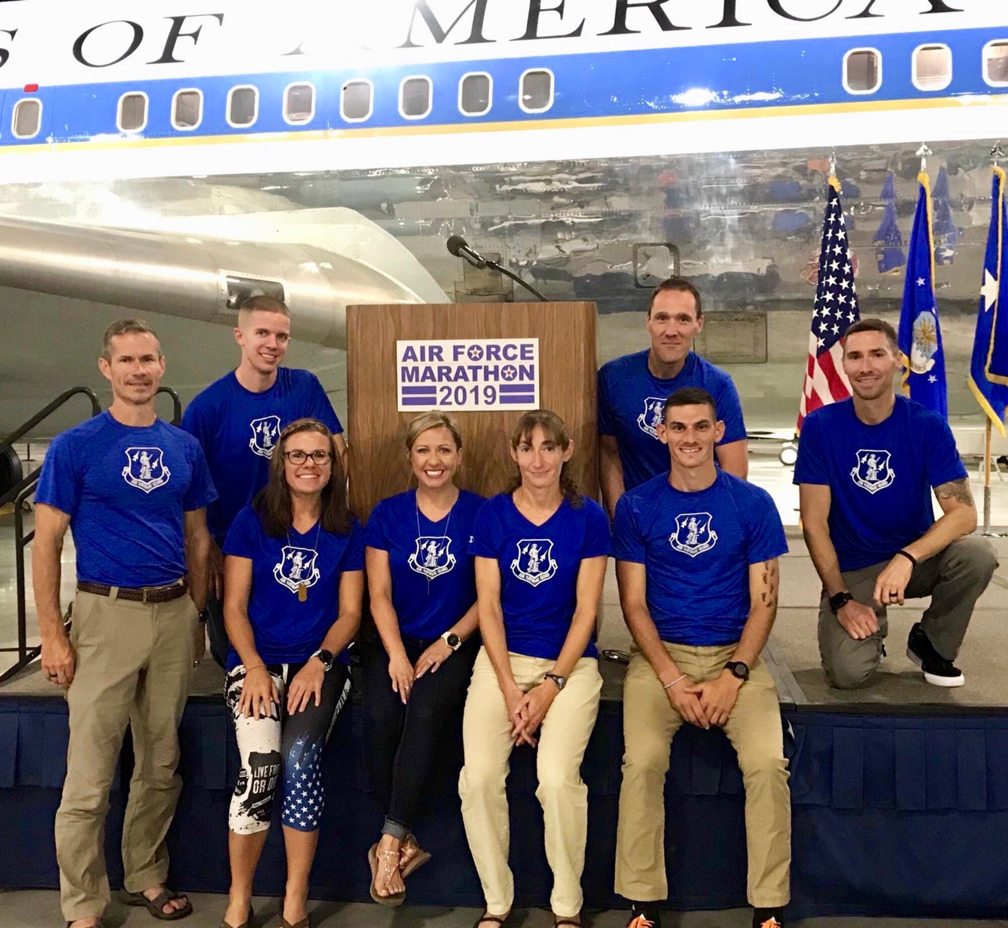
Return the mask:
[[[990,87],[983,77],[982,50],[995,39],[1008,41],[1003,29],[980,28],[928,33],[895,33],[815,39],[699,45],[626,51],[572,53],[521,59],[442,62],[350,71],[290,71],[196,79],[124,81],[108,84],[41,88],[37,93],[3,93],[0,145],[17,146],[43,141],[85,141],[118,134],[119,98],[142,91],[149,98],[148,122],[140,137],[164,138],[311,131],[324,129],[389,128],[396,126],[468,125],[480,122],[535,122],[543,119],[582,119],[689,111],[732,112],[772,110],[784,106],[934,99],[963,95],[1000,95],[1008,87]],[[953,80],[937,92],[920,91],[911,80],[913,49],[920,44],[943,43],[953,51]],[[882,86],[868,95],[848,93],[843,86],[844,55],[852,48],[873,47],[882,53]],[[522,72],[546,68],[553,72],[555,99],[542,113],[526,113],[518,104]],[[483,116],[459,112],[459,81],[469,72],[493,77],[493,105]],[[410,75],[426,75],[433,83],[433,105],[423,119],[405,119],[398,112],[399,83]],[[374,85],[374,110],[365,122],[348,122],[340,115],[344,83],[366,78]],[[305,123],[291,125],[282,116],[283,91],[296,82],[316,85],[316,112]],[[228,92],[240,85],[259,88],[259,118],[235,128],[225,118]],[[203,122],[197,129],[171,126],[172,96],[182,88],[204,93]],[[690,94],[689,92],[694,92]],[[710,92],[704,105],[690,105]],[[751,99],[752,95],[760,95]],[[688,95],[684,100],[676,100]],[[764,96],[764,95],[769,95]],[[42,101],[42,129],[31,139],[14,138],[13,107],[18,100]],[[749,98],[749,99],[745,99]],[[992,131],[992,134],[996,134]],[[137,137],[124,133],[125,137]]]

